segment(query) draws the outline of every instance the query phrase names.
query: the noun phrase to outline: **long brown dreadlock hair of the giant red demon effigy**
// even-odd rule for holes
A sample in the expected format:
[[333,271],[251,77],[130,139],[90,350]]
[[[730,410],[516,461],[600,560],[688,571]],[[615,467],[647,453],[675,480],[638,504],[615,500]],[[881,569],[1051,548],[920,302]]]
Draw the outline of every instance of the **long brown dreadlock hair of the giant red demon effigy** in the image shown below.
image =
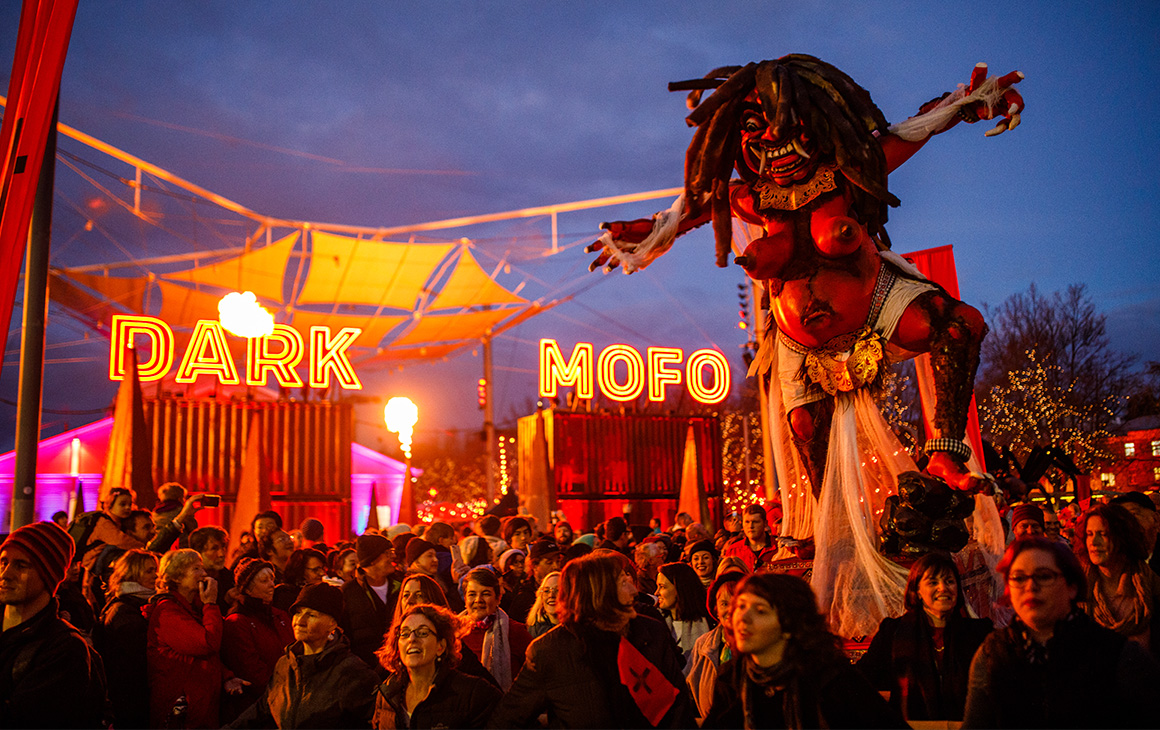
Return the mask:
[[[705,89],[713,93],[701,100]],[[824,60],[791,53],[776,60],[713,68],[702,79],[674,81],[668,91],[688,91],[696,127],[684,158],[687,215],[702,214],[708,204],[717,243],[717,266],[726,266],[733,243],[728,186],[741,156],[740,115],[754,89],[775,137],[796,133],[800,121],[818,144],[822,159],[833,158],[850,182],[853,212],[883,248],[890,247],[885,223],[887,205],[899,201],[886,189],[886,156],[873,136],[887,123],[869,92]],[[744,165],[739,173],[755,182]]]

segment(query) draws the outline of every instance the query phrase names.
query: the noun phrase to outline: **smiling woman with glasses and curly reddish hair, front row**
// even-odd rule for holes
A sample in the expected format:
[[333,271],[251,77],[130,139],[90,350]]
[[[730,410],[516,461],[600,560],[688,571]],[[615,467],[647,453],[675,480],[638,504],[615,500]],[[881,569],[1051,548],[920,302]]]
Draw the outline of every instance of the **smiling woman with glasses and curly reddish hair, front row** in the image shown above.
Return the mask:
[[441,606],[422,603],[403,612],[377,652],[391,675],[375,695],[371,727],[484,727],[501,693],[456,668],[464,630],[462,620]]

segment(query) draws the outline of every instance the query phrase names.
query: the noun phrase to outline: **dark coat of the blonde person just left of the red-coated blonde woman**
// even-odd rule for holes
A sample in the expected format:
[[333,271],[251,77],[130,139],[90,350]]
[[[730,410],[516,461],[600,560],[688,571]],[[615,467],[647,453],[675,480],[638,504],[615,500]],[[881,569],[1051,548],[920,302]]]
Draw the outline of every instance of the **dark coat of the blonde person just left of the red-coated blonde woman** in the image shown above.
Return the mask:
[[142,608],[152,595],[152,592],[139,592],[114,598],[104,606],[100,628],[93,633],[93,644],[104,659],[109,702],[118,729],[148,727],[148,693],[142,692],[148,686],[145,656],[148,621]]

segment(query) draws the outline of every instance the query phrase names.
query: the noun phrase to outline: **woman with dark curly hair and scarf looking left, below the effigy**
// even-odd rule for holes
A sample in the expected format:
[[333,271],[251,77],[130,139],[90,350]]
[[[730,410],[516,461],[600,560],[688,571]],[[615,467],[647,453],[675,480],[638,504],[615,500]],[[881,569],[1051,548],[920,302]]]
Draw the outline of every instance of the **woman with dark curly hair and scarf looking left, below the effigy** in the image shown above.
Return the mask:
[[720,667],[704,728],[909,727],[850,666],[805,580],[749,576],[730,617],[737,652]]

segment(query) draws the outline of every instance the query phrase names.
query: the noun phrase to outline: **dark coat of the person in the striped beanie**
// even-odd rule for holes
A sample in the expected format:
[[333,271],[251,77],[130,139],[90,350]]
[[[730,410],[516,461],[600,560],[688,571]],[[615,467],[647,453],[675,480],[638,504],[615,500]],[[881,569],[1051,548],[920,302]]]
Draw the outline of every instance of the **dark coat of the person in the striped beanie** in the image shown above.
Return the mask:
[[101,656],[55,598],[0,634],[0,728],[101,728],[107,714]]

